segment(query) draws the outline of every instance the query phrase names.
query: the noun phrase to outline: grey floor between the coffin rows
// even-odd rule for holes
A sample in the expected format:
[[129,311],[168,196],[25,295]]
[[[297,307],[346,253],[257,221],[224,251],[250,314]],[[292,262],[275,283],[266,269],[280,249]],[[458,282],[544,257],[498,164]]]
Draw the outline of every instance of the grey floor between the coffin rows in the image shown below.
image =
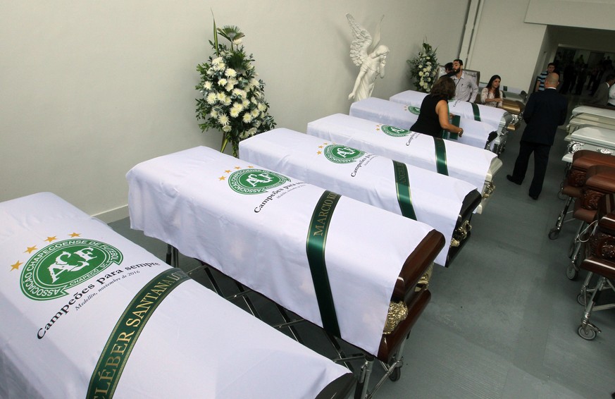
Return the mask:
[[[571,105],[576,99],[571,97]],[[406,342],[401,379],[387,381],[376,398],[611,397],[615,310],[592,316],[602,329],[595,340],[577,335],[583,307],[576,296],[584,273],[569,281],[565,269],[578,223],[565,223],[557,240],[547,237],[564,207],[557,197],[564,135],[562,128],[545,188],[534,201],[527,192],[531,161],[521,187],[506,180],[521,131],[511,134],[500,156],[504,166],[495,176],[495,193],[483,214],[473,216],[470,240],[448,269],[434,271],[432,300]],[[164,259],[166,245],[131,231],[128,219],[111,226]],[[185,257],[180,262],[209,286],[198,262]],[[227,292],[236,290],[229,281],[223,285]],[[280,321],[266,301],[255,298],[254,303],[263,319]],[[299,330],[306,345],[330,354],[318,331]]]

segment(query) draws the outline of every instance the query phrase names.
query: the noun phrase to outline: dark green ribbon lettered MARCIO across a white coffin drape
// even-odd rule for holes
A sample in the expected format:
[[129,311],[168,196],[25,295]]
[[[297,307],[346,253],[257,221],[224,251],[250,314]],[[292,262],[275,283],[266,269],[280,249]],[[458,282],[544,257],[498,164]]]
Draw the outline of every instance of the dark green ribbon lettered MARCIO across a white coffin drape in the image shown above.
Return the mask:
[[337,314],[335,314],[335,304],[325,264],[325,245],[333,211],[340,197],[342,196],[335,192],[328,190],[323,192],[314,208],[306,239],[307,258],[323,328],[338,337],[341,336],[340,326],[337,324]]

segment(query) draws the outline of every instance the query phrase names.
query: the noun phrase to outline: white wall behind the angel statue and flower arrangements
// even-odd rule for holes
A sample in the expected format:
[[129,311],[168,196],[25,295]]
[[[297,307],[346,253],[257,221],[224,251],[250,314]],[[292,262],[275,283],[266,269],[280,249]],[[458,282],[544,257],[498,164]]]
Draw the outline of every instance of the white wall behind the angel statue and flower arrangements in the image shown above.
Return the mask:
[[385,15],[382,43],[391,52],[373,95],[388,98],[409,88],[406,59],[423,37],[440,59],[456,56],[468,2],[0,5],[0,201],[51,191],[89,214],[106,212],[103,219],[111,221],[126,215],[124,176],[132,166],[196,145],[220,145],[219,133],[203,135],[194,116],[196,66],[211,53],[210,9],[218,25],[237,25],[246,34],[278,126],[304,131],[313,119],[348,111],[358,69],[348,55],[345,13],[371,32]]

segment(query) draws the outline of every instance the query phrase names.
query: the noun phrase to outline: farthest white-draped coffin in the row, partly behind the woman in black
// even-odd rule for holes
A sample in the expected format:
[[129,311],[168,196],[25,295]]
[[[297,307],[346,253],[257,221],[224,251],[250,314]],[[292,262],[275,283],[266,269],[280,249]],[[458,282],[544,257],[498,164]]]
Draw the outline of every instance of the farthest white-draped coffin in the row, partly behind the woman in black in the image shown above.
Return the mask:
[[[409,106],[416,106],[420,109],[423,98],[426,95],[425,93],[407,90],[395,94],[390,97],[390,100]],[[509,126],[513,124],[513,118],[509,112],[494,106],[485,106],[464,101],[449,102],[449,112],[454,115],[459,115],[461,118],[473,119],[491,125],[492,129],[497,131],[497,137],[494,140],[494,152],[499,154],[504,150],[508,132],[512,129],[509,128]]]

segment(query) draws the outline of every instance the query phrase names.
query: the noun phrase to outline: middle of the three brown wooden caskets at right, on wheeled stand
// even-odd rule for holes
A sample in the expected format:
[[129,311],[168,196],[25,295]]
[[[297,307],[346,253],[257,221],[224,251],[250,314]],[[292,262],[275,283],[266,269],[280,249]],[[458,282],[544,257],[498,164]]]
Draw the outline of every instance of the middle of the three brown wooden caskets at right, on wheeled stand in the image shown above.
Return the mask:
[[615,192],[615,168],[604,165],[590,166],[585,174],[583,187],[580,189],[580,197],[574,204],[573,218],[581,221],[581,227],[575,239],[576,245],[571,254],[571,263],[566,269],[566,276],[571,280],[578,276],[576,261],[580,255],[581,228],[594,221],[600,199],[613,192]]

